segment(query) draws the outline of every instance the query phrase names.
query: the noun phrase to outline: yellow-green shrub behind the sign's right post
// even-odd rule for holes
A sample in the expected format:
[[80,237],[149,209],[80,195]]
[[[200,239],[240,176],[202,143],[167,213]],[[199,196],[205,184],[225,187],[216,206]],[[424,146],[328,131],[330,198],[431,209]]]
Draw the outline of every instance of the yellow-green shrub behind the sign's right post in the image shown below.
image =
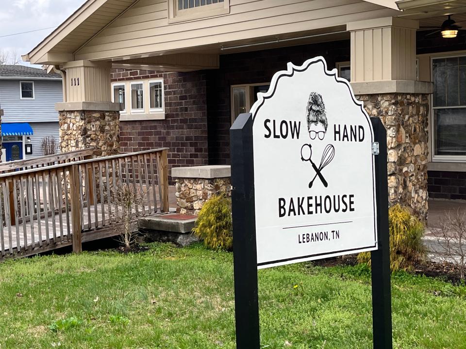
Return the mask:
[[[414,271],[415,263],[424,254],[422,235],[423,224],[406,207],[391,206],[388,209],[390,231],[390,268],[392,271]],[[358,255],[359,263],[370,265],[370,252]]]

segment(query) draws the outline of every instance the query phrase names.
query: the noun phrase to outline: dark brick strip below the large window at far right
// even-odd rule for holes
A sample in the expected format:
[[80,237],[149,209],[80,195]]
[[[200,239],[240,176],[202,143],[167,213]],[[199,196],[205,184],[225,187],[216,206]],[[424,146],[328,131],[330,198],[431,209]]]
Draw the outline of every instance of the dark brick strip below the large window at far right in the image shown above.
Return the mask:
[[428,171],[429,197],[466,200],[466,172]]

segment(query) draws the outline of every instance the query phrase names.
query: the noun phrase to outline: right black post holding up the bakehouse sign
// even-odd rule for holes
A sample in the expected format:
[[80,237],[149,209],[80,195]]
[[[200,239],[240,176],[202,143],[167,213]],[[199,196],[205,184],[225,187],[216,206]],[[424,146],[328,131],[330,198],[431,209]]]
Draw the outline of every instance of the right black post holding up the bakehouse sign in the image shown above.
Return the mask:
[[379,118],[370,118],[379,155],[375,156],[377,234],[379,249],[371,252],[372,328],[374,349],[392,349],[390,240],[388,229],[387,132]]

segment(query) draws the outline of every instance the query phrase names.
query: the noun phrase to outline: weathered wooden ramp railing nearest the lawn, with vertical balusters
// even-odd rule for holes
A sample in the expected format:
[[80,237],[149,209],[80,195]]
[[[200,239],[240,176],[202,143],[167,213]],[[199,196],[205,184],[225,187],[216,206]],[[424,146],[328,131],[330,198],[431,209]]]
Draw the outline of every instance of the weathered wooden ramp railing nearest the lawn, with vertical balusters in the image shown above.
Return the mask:
[[[135,217],[168,211],[168,148],[0,174],[0,259],[81,244],[118,233],[119,193],[141,199]],[[12,197],[10,197],[12,193]]]

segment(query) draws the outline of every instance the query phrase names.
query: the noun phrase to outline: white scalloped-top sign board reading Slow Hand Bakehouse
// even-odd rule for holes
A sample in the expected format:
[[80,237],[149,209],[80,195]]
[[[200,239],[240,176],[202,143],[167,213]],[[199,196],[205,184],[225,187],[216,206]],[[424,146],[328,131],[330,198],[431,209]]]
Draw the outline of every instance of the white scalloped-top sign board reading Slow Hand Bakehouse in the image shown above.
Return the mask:
[[374,132],[322,57],[252,106],[258,268],[377,249]]

